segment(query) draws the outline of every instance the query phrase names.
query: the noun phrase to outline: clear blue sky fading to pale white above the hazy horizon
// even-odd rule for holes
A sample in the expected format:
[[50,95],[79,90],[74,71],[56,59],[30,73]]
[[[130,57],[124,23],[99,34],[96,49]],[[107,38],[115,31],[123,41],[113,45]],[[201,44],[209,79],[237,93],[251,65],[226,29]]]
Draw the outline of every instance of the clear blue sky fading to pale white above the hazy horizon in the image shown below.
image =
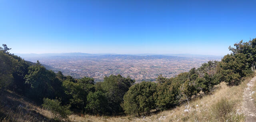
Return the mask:
[[12,53],[228,54],[256,37],[256,0],[0,0]]

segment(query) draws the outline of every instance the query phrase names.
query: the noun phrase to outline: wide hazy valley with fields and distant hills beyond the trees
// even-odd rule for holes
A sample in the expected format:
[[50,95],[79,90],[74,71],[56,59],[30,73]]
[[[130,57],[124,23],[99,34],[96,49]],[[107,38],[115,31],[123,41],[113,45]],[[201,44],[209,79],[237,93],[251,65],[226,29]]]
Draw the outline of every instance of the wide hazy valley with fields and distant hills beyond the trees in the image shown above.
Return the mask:
[[55,72],[75,78],[93,77],[95,81],[103,81],[105,76],[130,76],[136,82],[155,81],[162,74],[174,77],[191,68],[198,68],[209,60],[220,60],[221,56],[193,54],[18,54],[25,60],[51,66]]

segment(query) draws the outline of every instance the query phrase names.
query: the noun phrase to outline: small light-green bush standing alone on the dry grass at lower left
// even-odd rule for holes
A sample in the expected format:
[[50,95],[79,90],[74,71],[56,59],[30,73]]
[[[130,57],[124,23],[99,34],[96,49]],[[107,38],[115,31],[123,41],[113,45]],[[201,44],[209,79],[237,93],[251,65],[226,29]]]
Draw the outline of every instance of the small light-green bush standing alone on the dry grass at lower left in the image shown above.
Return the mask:
[[57,99],[51,100],[51,99],[43,99],[44,104],[42,104],[43,108],[46,110],[50,110],[52,112],[52,118],[54,120],[62,120],[62,119],[68,119],[68,116],[72,113],[68,106],[62,106],[60,105],[60,101]]

